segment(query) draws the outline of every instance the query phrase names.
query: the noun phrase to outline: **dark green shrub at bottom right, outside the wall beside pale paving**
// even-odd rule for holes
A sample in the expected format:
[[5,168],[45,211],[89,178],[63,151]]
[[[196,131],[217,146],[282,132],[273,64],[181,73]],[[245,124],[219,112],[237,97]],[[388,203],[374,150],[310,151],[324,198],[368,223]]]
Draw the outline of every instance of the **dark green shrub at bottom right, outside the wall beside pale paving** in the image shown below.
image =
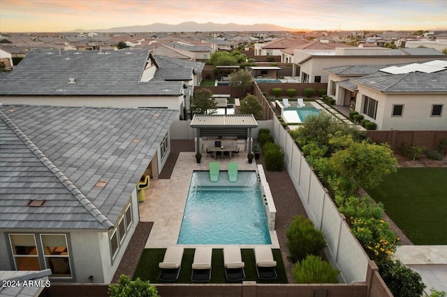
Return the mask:
[[423,296],[425,284],[419,273],[406,267],[399,260],[377,263],[380,275],[393,296]]

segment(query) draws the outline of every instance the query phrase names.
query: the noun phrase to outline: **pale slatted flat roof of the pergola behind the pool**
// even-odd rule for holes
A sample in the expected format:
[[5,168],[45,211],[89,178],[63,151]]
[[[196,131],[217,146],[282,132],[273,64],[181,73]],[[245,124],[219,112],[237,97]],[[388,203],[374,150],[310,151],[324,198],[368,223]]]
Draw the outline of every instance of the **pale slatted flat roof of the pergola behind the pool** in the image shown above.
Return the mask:
[[240,127],[256,128],[253,114],[194,114],[192,128]]

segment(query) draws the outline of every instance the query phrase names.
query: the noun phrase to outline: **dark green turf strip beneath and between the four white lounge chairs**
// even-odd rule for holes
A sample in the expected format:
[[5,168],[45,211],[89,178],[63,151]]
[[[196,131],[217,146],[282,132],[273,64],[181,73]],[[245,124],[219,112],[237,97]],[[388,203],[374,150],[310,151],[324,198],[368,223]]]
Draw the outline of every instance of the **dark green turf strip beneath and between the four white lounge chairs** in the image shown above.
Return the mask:
[[[140,280],[149,280],[151,284],[160,283],[159,281],[159,262],[163,261],[163,257],[166,249],[155,248],[155,249],[145,249],[142,252],[140,262],[138,263],[135,275],[133,275],[133,280],[140,277]],[[245,262],[245,280],[256,280],[256,282],[263,283],[274,283],[274,284],[287,284],[286,271],[284,269],[284,264],[281,258],[280,250],[272,250],[274,260],[277,261],[277,274],[276,280],[258,280],[258,275],[256,274],[256,264],[254,261],[253,250],[241,250],[242,261]],[[179,280],[177,283],[189,284],[191,283],[191,273],[194,257],[194,249],[186,248],[184,249],[183,259],[182,259],[182,269],[180,270]],[[223,269],[223,250],[213,249],[212,250],[212,270],[211,270],[211,281],[210,283],[221,284],[226,283],[225,270]],[[237,283],[237,282],[231,282]],[[242,282],[239,282],[242,283]]]

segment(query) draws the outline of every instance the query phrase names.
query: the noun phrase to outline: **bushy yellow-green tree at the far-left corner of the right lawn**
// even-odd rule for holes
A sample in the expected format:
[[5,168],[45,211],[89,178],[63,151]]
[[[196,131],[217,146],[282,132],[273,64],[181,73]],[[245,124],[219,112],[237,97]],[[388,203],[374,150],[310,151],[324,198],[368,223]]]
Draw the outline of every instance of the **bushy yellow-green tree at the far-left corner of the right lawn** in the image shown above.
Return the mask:
[[351,145],[336,151],[329,159],[333,172],[353,181],[356,192],[359,188],[376,188],[383,181],[383,176],[396,172],[396,163],[388,145],[365,140],[351,142]]

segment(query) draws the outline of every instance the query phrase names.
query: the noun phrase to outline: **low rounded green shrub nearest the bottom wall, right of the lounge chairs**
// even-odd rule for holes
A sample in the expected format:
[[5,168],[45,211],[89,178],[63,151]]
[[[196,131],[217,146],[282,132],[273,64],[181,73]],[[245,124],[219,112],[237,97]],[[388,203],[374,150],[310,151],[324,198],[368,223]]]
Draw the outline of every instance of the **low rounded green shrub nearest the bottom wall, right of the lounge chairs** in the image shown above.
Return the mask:
[[339,271],[319,256],[308,255],[292,267],[295,284],[337,284]]

